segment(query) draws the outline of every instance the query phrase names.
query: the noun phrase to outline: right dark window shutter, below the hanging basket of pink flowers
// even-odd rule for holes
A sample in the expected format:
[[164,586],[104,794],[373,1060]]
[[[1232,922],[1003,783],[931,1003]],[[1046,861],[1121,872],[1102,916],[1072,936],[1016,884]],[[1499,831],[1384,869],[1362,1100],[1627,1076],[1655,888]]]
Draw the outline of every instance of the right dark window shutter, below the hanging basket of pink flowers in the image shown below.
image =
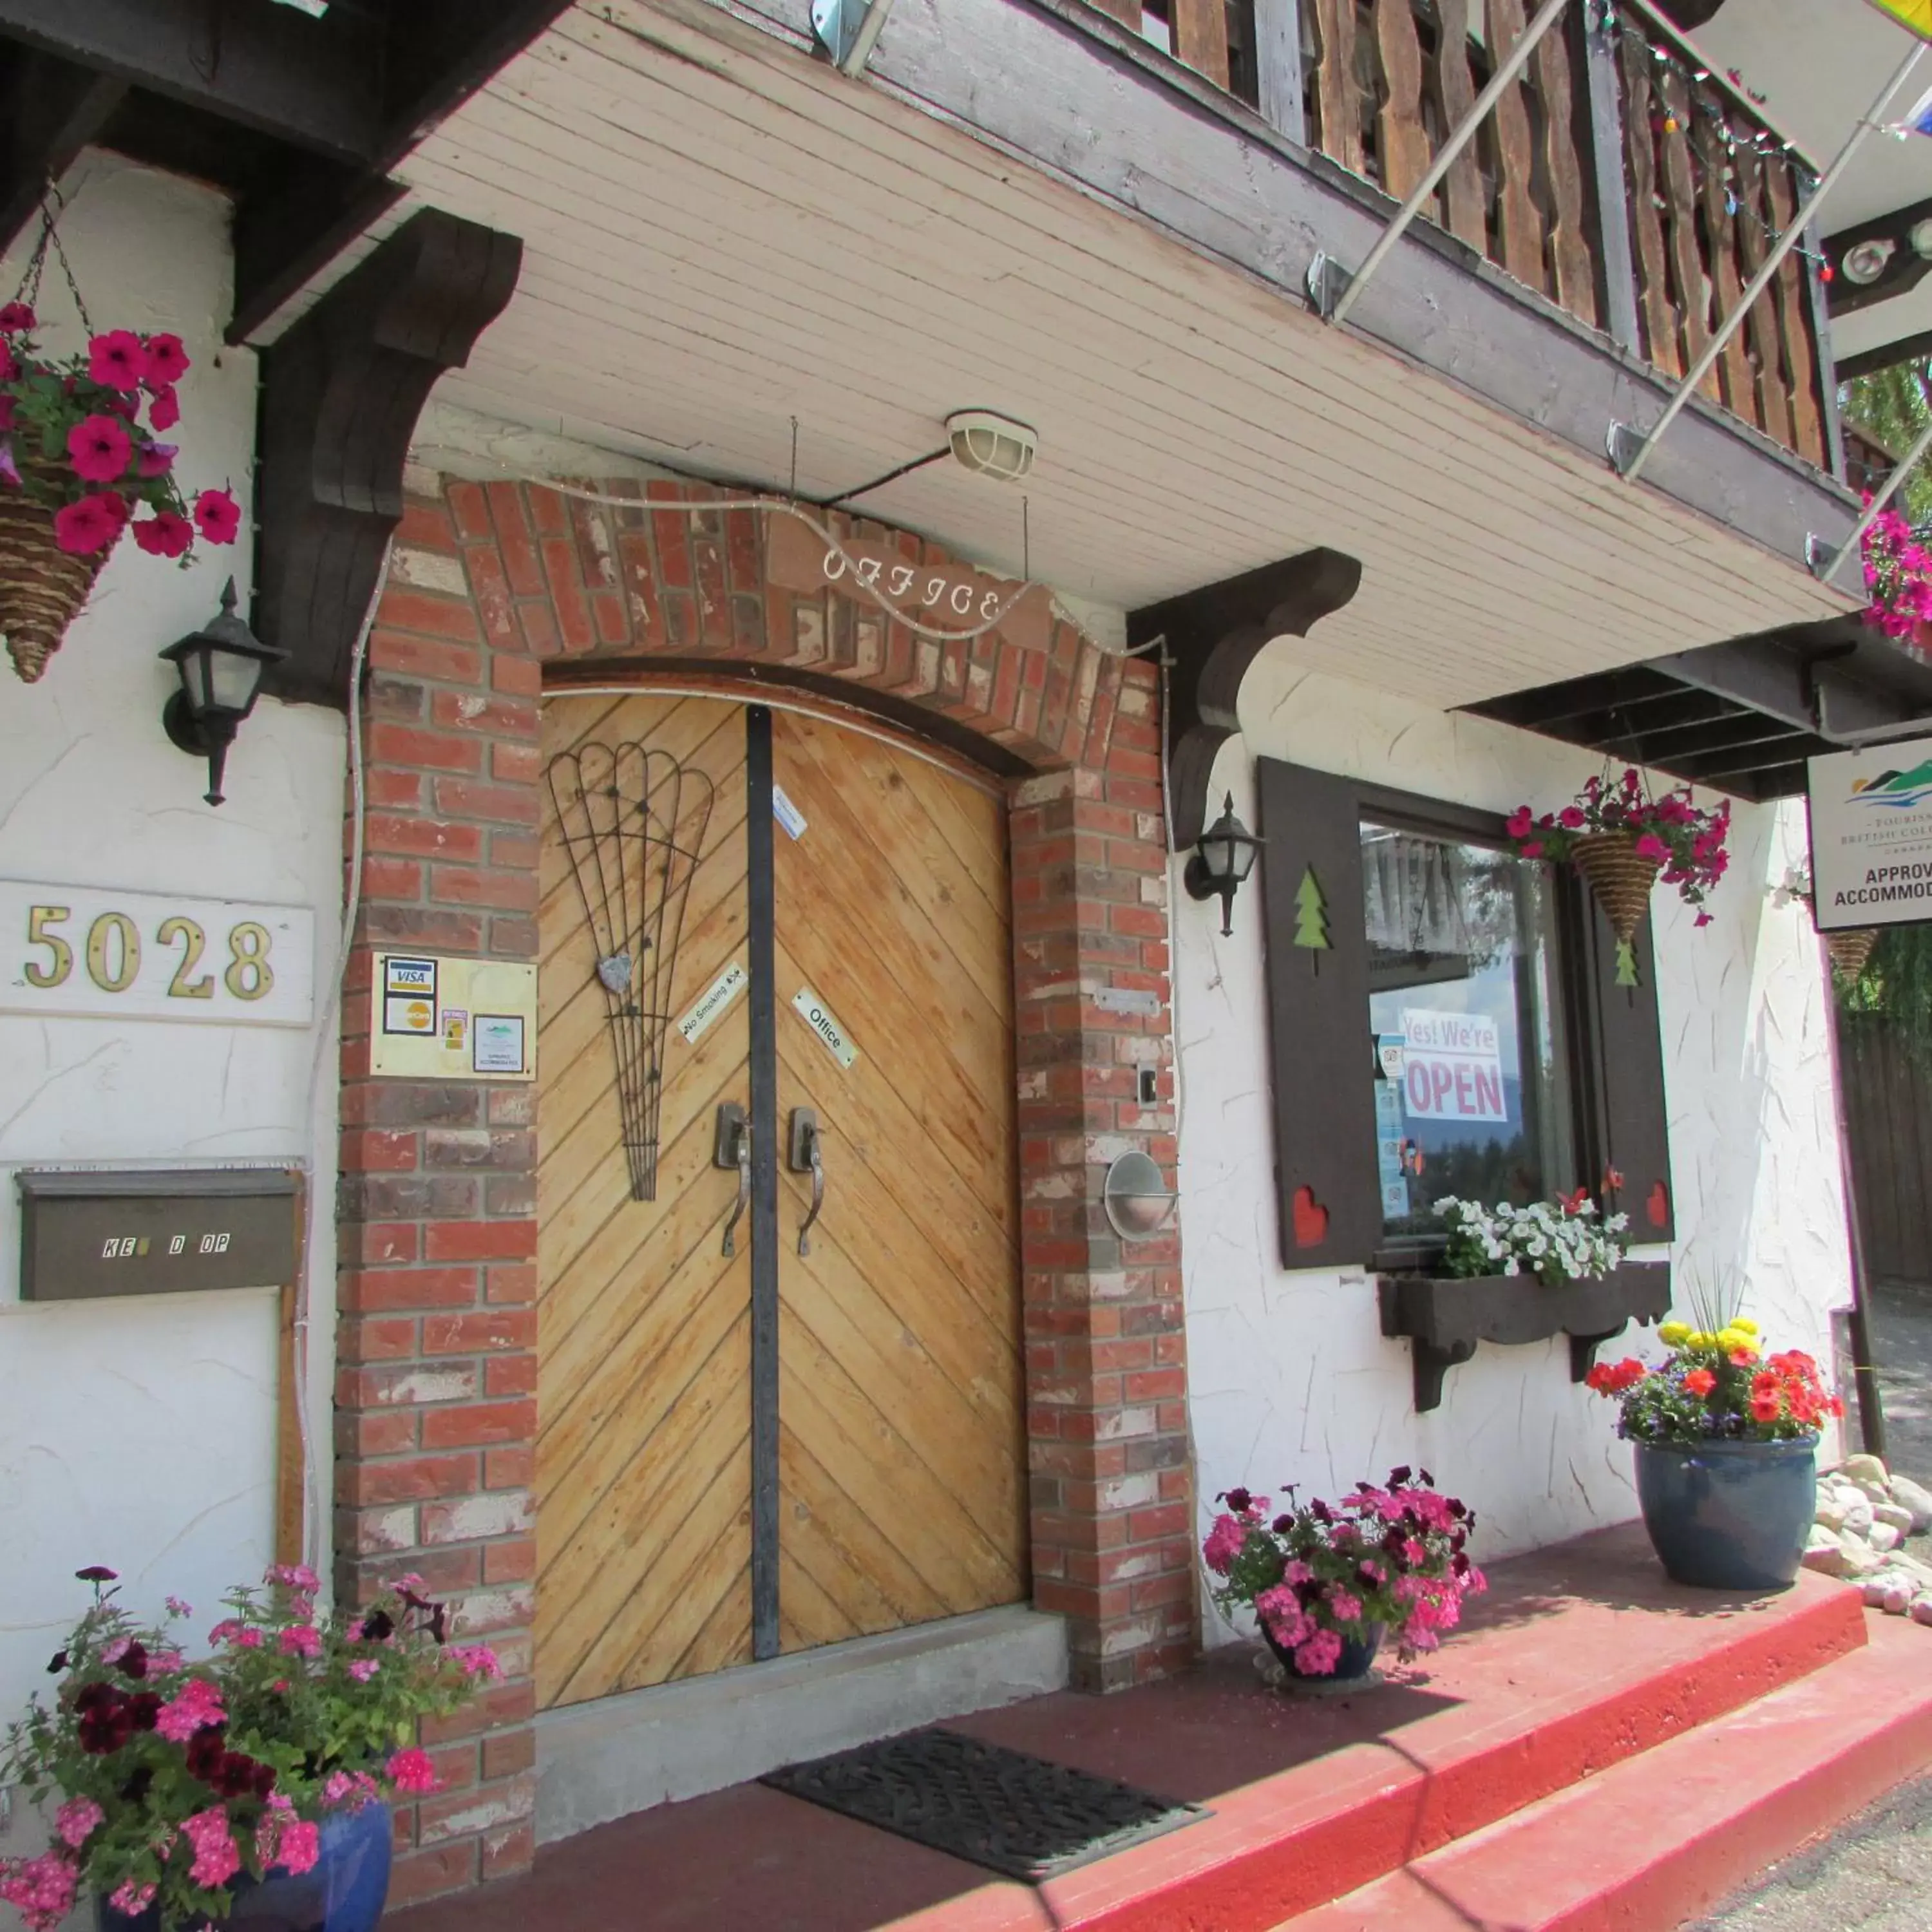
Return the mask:
[[[1638,927],[1636,985],[1617,985],[1617,937],[1609,920],[1580,879],[1575,893],[1573,933],[1584,943],[1580,993],[1573,1009],[1582,1022],[1578,1059],[1590,1074],[1590,1128],[1596,1173],[1577,1179],[1592,1194],[1605,1190],[1605,1171],[1623,1175],[1615,1208],[1631,1217],[1629,1240],[1669,1240],[1677,1231],[1671,1188],[1671,1146],[1663,1101],[1663,1034],[1658,1024],[1658,972],[1650,949],[1650,920]],[[1609,1206],[1605,1202],[1605,1206]]]

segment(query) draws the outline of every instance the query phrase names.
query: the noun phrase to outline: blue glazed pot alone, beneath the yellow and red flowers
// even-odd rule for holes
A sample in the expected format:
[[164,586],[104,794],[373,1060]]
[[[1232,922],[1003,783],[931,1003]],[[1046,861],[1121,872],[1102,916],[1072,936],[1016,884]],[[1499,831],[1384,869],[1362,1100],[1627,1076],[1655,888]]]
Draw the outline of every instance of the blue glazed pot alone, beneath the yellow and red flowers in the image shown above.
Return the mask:
[[1665,1575],[1698,1590],[1789,1590],[1818,1509],[1816,1449],[1636,1443],[1636,1497]]

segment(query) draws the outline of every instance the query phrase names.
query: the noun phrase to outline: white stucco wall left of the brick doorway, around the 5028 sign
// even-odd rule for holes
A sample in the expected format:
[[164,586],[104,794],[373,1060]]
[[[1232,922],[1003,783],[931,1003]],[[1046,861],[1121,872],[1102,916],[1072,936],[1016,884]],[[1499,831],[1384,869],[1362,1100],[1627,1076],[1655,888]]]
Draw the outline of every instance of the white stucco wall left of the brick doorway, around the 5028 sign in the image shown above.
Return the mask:
[[[64,185],[62,234],[95,327],[184,338],[195,367],[170,437],[178,473],[230,485],[247,516],[255,357],[220,342],[226,201],[110,156],[87,156]],[[0,270],[6,294],[17,255]],[[41,313],[54,325],[44,348],[81,348],[54,267]],[[249,562],[247,524],[187,570],[124,541],[39,684],[0,661],[0,877],[307,906],[321,1009],[340,925],[342,717],[265,699],[220,810],[201,798],[207,767],[160,730],[176,678],[155,653],[214,614],[230,572],[245,607]],[[0,935],[10,978],[23,939]],[[214,1611],[270,1557],[274,1488],[274,1291],[23,1304],[14,1173],[307,1165],[321,1148],[309,1387],[327,1468],[336,1063],[325,1055],[311,1107],[313,1051],[299,1026],[0,1014],[0,1721],[48,1683],[48,1654],[85,1602],[75,1569],[118,1569],[143,1613],[168,1592]],[[0,1830],[0,1849],[15,1847]]]

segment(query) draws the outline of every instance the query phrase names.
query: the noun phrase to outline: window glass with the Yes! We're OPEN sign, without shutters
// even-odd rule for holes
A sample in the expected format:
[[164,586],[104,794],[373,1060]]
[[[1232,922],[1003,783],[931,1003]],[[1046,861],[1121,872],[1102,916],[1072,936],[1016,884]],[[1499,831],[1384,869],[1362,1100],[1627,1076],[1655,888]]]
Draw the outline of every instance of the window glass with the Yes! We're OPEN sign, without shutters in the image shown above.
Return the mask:
[[1364,819],[1376,1180],[1391,1242],[1441,1235],[1445,1194],[1569,1192],[1577,1132],[1549,867]]

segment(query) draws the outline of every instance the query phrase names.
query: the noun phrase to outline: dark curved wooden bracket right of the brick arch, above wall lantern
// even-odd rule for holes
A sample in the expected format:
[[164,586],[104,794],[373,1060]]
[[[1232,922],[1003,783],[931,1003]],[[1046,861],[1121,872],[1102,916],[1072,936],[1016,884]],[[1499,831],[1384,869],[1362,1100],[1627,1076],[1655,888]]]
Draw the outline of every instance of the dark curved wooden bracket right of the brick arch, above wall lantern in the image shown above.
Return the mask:
[[1269,639],[1306,638],[1360,583],[1358,558],[1302,551],[1128,614],[1128,645],[1165,638],[1173,663],[1163,728],[1177,852],[1194,844],[1208,823],[1208,781],[1215,752],[1240,730],[1236,703],[1248,667]]

